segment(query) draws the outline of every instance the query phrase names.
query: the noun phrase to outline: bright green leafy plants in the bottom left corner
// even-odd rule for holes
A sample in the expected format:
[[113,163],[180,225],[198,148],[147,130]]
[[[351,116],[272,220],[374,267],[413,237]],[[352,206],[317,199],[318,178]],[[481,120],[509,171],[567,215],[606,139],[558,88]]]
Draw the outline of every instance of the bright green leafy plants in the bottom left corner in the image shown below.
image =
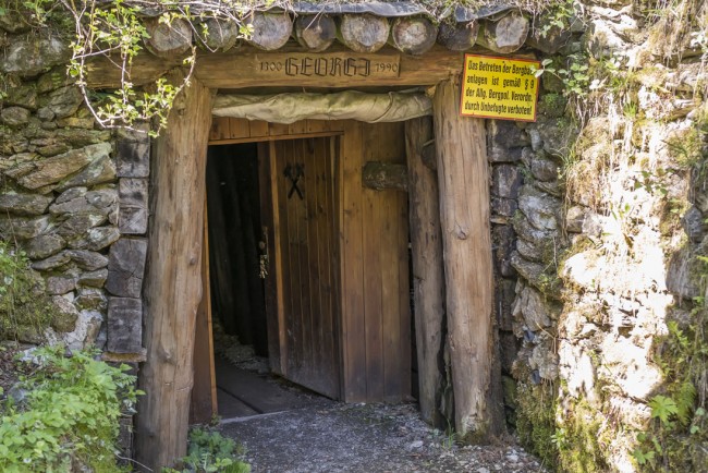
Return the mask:
[[125,470],[115,456],[119,421],[133,413],[139,391],[127,366],[110,366],[97,355],[65,356],[58,345],[37,349],[21,362],[23,396],[0,403],[1,471]]

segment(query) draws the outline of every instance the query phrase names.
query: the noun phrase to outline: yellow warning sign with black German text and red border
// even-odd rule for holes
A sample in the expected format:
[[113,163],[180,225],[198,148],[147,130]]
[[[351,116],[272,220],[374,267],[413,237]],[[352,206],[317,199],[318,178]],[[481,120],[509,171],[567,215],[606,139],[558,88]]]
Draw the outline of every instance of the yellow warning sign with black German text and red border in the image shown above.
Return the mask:
[[539,61],[465,54],[460,113],[536,121]]

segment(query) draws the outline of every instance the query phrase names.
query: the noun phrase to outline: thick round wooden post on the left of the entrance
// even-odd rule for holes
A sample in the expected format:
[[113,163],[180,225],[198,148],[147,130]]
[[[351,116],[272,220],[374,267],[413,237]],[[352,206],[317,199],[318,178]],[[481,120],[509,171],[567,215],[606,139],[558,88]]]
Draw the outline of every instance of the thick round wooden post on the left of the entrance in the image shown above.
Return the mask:
[[154,471],[186,453],[210,121],[211,94],[192,78],[152,148],[144,292],[147,362],[138,379],[146,395],[138,403],[135,453]]

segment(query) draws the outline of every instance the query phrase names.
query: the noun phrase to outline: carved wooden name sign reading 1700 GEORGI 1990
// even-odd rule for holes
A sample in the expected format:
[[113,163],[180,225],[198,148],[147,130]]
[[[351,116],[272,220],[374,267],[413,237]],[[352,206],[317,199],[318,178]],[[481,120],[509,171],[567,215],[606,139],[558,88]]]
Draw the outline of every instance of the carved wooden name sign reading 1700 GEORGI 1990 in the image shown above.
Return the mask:
[[256,54],[256,77],[376,77],[399,76],[399,54],[357,54],[356,52]]

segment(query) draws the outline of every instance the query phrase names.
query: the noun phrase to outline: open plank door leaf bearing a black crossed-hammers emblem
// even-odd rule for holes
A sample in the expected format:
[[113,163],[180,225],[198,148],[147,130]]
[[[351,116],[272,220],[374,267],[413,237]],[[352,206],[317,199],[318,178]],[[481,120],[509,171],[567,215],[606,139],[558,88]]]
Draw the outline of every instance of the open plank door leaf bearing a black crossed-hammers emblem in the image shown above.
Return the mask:
[[272,143],[270,172],[280,367],[292,381],[338,399],[339,205],[332,140]]

